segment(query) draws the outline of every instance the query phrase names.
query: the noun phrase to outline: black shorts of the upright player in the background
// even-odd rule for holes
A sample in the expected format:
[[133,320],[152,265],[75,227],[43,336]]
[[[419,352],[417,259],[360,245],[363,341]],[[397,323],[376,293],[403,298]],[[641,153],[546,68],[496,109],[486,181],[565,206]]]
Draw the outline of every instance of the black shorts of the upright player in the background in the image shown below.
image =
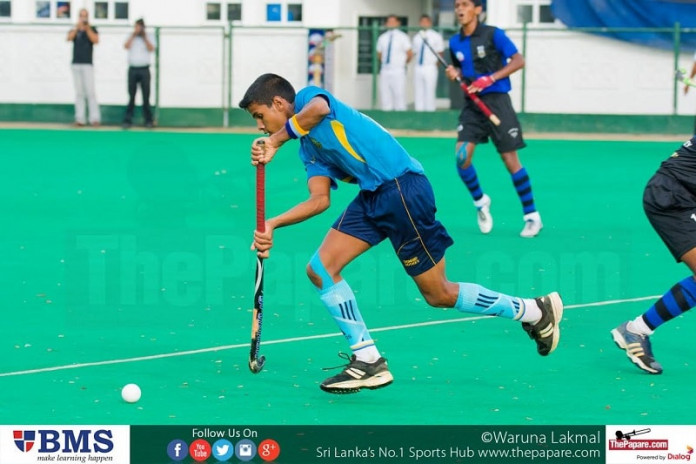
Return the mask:
[[488,93],[479,98],[498,116],[500,125],[495,126],[471,99],[464,98],[464,107],[459,114],[457,140],[475,144],[488,143],[493,140],[498,153],[519,150],[527,146],[522,137],[522,128],[517,113],[512,107],[510,95],[506,93]]

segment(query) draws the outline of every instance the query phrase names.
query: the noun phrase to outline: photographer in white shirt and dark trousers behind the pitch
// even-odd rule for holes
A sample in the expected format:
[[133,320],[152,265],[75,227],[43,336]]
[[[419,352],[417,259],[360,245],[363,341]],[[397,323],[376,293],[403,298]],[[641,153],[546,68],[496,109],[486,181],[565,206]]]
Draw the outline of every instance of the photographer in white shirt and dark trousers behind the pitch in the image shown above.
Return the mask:
[[153,127],[152,108],[150,108],[150,62],[155,50],[154,37],[145,31],[145,21],[141,18],[135,22],[133,33],[124,44],[128,50],[128,107],[123,118],[123,127],[128,129],[133,124],[135,94],[140,84],[143,97],[143,117],[145,127]]

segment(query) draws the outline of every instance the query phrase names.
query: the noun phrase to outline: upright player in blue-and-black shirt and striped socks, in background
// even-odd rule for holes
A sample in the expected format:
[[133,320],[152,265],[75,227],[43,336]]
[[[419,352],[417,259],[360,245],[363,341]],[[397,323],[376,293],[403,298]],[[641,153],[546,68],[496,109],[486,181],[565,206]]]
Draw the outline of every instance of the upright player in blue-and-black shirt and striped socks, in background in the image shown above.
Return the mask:
[[455,0],[454,12],[461,29],[450,38],[453,66],[447,68],[447,77],[468,83],[469,91],[478,94],[501,121],[499,126],[493,125],[471,99],[464,99],[457,134],[457,171],[474,200],[479,229],[487,234],[493,228],[491,199],[481,188],[472,160],[476,146],[487,143],[490,137],[512,176],[522,203],[525,225],[520,235],[535,237],[543,224],[534,203],[529,175],[517,155],[517,150],[526,144],[508,95],[511,89],[508,76],[524,66],[524,57],[505,32],[479,23],[481,0]]

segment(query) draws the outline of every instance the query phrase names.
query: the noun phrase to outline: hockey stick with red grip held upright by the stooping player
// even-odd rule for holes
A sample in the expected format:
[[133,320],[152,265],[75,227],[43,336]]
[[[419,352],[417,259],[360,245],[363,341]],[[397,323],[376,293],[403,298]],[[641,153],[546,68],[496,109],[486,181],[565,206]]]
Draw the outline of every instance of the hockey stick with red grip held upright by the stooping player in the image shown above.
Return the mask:
[[[263,145],[263,140],[258,142]],[[266,165],[256,165],[256,230],[266,231]],[[249,370],[258,374],[266,362],[259,356],[261,349],[261,327],[263,322],[263,258],[256,256],[256,279],[254,281],[254,313],[251,319],[251,350]]]

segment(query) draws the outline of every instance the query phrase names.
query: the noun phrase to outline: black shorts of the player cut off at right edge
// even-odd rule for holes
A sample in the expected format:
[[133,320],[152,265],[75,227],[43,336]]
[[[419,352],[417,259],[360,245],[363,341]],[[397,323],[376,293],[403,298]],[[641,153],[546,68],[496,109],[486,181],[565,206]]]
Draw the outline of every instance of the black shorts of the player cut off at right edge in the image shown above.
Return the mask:
[[643,192],[643,209],[677,262],[696,248],[696,196],[674,177],[657,171]]

